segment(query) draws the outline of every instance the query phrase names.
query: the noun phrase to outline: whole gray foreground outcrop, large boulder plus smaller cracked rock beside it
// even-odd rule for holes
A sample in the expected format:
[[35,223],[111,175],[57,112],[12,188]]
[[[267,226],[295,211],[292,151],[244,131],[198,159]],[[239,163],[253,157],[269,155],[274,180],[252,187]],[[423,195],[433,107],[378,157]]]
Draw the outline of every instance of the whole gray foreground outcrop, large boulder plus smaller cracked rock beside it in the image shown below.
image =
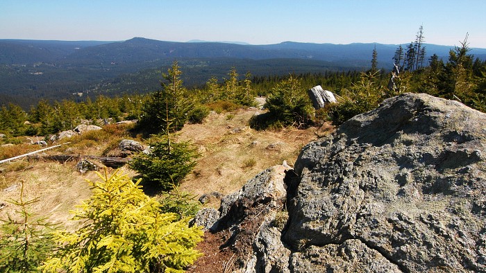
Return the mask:
[[211,227],[235,272],[486,272],[486,114],[461,103],[403,94],[351,118],[274,179],[283,203],[263,177]]

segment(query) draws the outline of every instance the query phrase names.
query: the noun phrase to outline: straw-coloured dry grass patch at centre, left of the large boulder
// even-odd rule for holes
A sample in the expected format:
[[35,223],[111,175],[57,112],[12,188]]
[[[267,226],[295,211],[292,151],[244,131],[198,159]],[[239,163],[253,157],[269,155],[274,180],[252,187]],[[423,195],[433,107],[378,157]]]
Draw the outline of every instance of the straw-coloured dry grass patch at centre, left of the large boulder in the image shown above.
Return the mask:
[[[195,195],[218,191],[232,193],[262,170],[287,161],[292,165],[301,148],[317,139],[316,127],[307,130],[285,128],[278,131],[256,131],[249,127],[254,108],[228,113],[212,112],[203,124],[186,125],[181,138],[192,140],[203,157],[195,171],[181,184],[183,191]],[[324,127],[326,134],[332,127]],[[276,148],[267,148],[280,143]],[[254,162],[253,162],[254,161]],[[217,204],[215,204],[217,205]]]

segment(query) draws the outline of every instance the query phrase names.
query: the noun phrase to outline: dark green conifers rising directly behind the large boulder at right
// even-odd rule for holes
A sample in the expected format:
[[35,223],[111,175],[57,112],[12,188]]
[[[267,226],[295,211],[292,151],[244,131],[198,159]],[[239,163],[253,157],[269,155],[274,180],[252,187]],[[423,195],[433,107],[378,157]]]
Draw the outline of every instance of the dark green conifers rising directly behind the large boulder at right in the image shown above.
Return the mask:
[[339,124],[355,114],[374,109],[385,98],[405,92],[458,100],[486,112],[486,61],[468,53],[467,38],[466,35],[460,46],[449,51],[448,60],[432,55],[426,63],[423,60],[425,38],[420,28],[417,39],[410,43],[407,52],[400,47],[396,50],[396,67],[392,73],[383,77],[383,72],[376,69],[374,55],[372,69],[362,73],[358,82],[337,92],[340,103],[325,109],[326,116]]

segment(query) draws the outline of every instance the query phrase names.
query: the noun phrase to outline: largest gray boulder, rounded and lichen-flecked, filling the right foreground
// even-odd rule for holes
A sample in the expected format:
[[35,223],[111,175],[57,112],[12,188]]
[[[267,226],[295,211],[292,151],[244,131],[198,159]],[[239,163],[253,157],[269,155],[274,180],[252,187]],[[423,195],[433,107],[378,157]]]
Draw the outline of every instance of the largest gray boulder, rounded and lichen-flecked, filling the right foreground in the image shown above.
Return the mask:
[[[486,272],[485,125],[486,114],[426,94],[351,118],[299,155],[285,243],[317,251],[358,240],[404,272]],[[355,261],[358,271],[388,266]]]

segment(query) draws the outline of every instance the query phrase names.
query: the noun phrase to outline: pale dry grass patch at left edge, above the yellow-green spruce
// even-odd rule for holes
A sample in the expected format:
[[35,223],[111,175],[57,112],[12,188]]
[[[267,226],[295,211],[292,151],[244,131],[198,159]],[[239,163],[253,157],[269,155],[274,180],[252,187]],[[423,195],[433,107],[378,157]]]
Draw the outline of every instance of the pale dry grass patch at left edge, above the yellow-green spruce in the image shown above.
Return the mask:
[[72,216],[69,211],[91,196],[90,186],[85,179],[99,179],[94,172],[82,175],[75,165],[76,162],[31,161],[24,170],[1,173],[0,185],[3,186],[0,202],[8,206],[0,210],[0,218],[5,219],[7,213],[15,215],[15,206],[9,204],[8,200],[19,200],[19,185],[24,182],[24,200],[40,198],[31,206],[33,213],[47,217],[49,222],[58,222],[67,229],[75,229],[77,223],[69,221]]

